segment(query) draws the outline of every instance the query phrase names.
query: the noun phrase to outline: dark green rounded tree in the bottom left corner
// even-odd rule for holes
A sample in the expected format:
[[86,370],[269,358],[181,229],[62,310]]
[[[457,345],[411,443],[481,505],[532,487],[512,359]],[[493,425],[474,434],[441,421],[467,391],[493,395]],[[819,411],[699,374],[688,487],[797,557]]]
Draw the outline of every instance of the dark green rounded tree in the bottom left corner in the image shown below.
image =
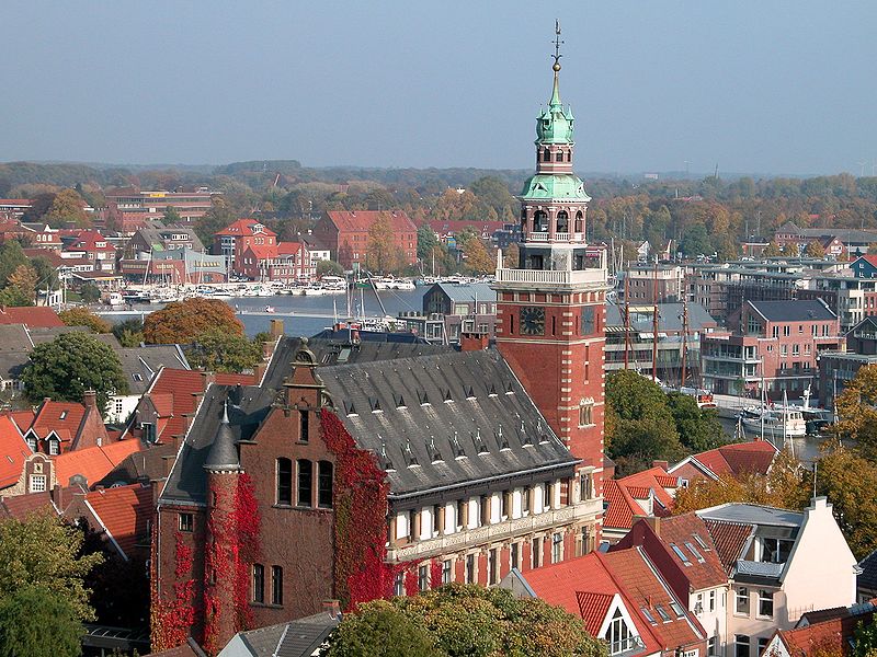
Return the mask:
[[45,587],[25,585],[0,600],[0,655],[78,657],[83,632],[76,608]]

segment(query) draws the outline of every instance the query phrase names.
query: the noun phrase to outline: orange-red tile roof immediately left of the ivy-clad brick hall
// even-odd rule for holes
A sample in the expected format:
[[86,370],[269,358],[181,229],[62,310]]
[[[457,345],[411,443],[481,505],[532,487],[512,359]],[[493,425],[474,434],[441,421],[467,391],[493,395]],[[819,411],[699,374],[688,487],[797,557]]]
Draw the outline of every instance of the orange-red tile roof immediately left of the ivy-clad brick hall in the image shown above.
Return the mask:
[[122,553],[130,558],[148,534],[152,517],[152,491],[140,484],[92,491],[86,503]]

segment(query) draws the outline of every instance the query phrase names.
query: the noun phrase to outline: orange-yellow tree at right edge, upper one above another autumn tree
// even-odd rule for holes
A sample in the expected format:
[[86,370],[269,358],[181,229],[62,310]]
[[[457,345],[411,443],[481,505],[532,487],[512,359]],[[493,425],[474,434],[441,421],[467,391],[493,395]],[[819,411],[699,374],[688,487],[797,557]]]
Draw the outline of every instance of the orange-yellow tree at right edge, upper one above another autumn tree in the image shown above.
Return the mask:
[[839,437],[848,438],[856,450],[867,459],[877,461],[877,366],[868,365],[847,381],[834,400],[838,423],[833,426]]

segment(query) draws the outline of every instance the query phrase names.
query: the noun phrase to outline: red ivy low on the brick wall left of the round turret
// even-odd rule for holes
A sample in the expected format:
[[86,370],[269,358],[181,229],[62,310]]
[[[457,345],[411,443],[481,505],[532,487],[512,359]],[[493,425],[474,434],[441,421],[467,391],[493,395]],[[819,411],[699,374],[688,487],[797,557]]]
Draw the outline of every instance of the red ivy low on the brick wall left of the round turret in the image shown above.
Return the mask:
[[152,649],[156,652],[184,644],[195,622],[195,580],[192,578],[194,551],[185,544],[180,531],[174,533],[174,542],[172,599],[159,599],[156,565],[152,565],[151,641]]

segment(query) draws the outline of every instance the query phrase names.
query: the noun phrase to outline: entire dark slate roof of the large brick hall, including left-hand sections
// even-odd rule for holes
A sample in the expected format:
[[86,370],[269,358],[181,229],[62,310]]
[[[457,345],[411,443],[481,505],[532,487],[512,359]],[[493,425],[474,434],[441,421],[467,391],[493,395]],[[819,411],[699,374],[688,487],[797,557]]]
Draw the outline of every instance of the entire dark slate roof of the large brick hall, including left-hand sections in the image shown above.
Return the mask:
[[[162,499],[206,500],[204,463],[226,399],[231,431],[238,440],[249,439],[291,374],[300,344],[287,336],[280,341],[261,387],[214,384],[207,390]],[[338,344],[310,341],[308,347],[317,362],[341,359],[340,353],[332,356]],[[496,351],[436,353],[432,345],[362,343],[344,357],[343,365],[317,372],[357,446],[389,468],[391,498],[491,476],[571,472],[577,462]],[[401,402],[405,407],[398,407]],[[500,426],[501,437],[494,434]],[[532,445],[524,447],[524,441]],[[442,460],[433,462],[434,457]]]

